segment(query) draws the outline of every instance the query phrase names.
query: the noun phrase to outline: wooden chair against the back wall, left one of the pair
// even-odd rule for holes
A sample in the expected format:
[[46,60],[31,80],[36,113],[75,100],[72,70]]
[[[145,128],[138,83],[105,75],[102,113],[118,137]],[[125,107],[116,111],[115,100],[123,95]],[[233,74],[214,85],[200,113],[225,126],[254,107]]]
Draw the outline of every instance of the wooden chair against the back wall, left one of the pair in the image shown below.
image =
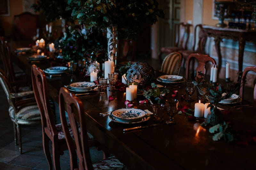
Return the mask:
[[192,25],[186,22],[181,22],[175,26],[176,39],[173,47],[162,47],[158,58],[162,61],[162,54],[170,54],[172,52],[178,52],[179,50],[188,49],[188,40],[190,34],[190,27]]

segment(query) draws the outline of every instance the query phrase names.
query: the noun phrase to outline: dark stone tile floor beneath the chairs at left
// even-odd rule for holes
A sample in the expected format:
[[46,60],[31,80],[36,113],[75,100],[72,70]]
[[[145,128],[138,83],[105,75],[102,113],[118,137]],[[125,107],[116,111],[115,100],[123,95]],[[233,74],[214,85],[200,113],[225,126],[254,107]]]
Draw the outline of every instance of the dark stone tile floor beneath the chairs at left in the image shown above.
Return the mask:
[[[0,101],[0,169],[49,169],[43,151],[41,124],[21,127],[23,153],[20,154],[19,146],[15,146],[13,123],[8,112],[9,104],[2,86],[0,87]],[[97,151],[95,147],[90,149],[90,153],[93,162],[102,159],[102,152]],[[61,169],[70,169],[68,151],[60,156],[60,164]]]

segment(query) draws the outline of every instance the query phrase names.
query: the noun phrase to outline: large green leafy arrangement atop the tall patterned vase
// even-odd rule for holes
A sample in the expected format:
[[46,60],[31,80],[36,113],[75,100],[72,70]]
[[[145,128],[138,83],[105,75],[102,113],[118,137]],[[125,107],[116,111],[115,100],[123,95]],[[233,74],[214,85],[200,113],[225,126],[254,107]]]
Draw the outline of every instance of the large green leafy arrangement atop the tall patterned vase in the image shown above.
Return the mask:
[[164,17],[157,0],[68,0],[66,10],[87,28],[117,26],[120,38],[134,38],[141,26]]

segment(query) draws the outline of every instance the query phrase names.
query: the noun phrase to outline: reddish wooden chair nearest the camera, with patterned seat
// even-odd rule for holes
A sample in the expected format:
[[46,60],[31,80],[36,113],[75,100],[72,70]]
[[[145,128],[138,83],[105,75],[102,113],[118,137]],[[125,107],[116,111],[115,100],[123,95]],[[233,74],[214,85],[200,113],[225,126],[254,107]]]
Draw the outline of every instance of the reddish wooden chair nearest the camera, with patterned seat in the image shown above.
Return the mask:
[[[64,134],[68,144],[70,156],[70,169],[77,168],[76,156],[79,160],[79,170],[126,169],[124,164],[122,164],[114,156],[103,159],[95,164],[92,164],[91,155],[89,152],[89,143],[87,140],[87,129],[83,103],[74,95],[74,93],[70,93],[67,88],[62,87],[60,88],[59,104],[62,128],[64,130]],[[75,140],[75,144],[73,143],[73,138],[71,137],[68,130],[65,110],[68,113],[68,120],[73,131],[73,138]]]

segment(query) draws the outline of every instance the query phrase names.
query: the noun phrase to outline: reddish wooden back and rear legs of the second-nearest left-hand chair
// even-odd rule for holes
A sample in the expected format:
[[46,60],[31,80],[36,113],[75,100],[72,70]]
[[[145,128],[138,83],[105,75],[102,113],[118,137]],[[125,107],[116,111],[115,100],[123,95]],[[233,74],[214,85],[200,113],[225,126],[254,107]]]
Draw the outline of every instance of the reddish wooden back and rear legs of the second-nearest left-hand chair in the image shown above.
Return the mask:
[[58,138],[58,130],[50,107],[46,77],[43,70],[36,67],[35,64],[31,66],[31,77],[36,103],[41,115],[44,153],[51,169],[52,158],[48,144],[50,139],[52,141],[53,165],[55,169],[60,169],[60,152],[67,149],[67,147],[65,147],[65,139],[60,140]]

